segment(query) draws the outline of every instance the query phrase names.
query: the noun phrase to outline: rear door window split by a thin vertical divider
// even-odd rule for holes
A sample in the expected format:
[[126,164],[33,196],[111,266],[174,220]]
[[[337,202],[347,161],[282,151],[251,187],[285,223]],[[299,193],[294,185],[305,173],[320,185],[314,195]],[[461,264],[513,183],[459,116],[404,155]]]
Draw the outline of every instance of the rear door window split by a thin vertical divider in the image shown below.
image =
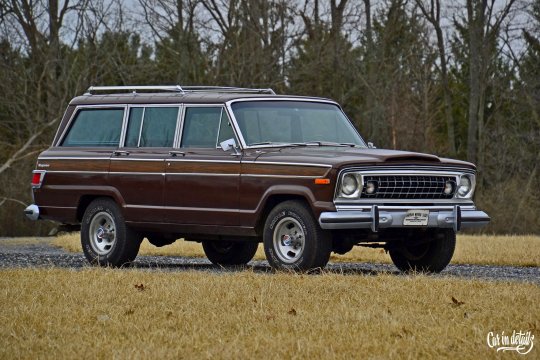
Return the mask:
[[134,107],[129,113],[126,147],[171,147],[178,107]]

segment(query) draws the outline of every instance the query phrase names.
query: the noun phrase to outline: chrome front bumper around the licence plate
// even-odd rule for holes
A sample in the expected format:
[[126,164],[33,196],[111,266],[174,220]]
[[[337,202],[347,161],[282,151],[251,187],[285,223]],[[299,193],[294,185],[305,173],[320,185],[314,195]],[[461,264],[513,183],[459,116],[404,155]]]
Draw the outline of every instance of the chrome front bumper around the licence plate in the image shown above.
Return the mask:
[[[369,211],[343,210],[323,212],[319,217],[321,228],[337,229],[371,229],[377,232],[380,228],[413,228],[403,225],[408,209],[380,210],[379,206],[371,206]],[[453,228],[459,231],[465,228],[480,227],[489,224],[490,217],[480,210],[462,210],[459,205],[452,210],[430,210],[427,226],[430,228]]]

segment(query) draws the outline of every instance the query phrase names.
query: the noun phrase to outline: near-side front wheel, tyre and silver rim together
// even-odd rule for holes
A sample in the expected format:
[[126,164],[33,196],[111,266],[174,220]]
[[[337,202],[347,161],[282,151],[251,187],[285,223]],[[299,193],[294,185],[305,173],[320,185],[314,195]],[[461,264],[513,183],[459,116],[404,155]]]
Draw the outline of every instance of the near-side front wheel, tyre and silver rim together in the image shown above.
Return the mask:
[[264,225],[264,252],[275,269],[307,271],[323,268],[330,259],[332,239],[302,201],[278,204]]

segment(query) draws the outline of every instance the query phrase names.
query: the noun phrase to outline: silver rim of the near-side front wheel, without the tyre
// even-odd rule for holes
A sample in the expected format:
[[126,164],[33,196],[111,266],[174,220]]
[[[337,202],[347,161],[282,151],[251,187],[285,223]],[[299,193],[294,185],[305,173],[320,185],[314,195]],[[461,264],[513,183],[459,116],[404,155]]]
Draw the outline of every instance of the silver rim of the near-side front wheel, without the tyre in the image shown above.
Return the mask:
[[275,227],[273,243],[276,255],[281,261],[294,263],[304,252],[304,230],[296,219],[285,217]]

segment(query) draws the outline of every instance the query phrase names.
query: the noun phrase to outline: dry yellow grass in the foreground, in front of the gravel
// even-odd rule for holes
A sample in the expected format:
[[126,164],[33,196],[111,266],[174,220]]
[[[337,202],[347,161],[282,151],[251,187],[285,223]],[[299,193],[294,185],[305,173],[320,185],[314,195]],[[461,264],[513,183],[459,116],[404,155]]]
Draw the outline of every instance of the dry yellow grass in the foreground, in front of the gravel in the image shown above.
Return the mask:
[[2,359],[478,359],[489,331],[540,329],[537,285],[422,275],[19,269],[0,288]]

